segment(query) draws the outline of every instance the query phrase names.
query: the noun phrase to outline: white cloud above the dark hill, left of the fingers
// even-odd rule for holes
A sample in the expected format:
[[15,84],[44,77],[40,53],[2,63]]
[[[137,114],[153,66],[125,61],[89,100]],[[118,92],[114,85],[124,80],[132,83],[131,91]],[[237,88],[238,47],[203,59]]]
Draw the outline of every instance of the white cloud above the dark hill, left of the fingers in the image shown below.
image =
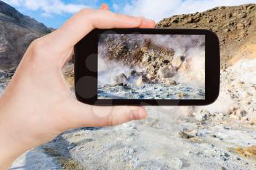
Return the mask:
[[15,7],[26,7],[26,9],[31,10],[42,10],[42,15],[52,15],[52,14],[73,14],[83,9],[85,6],[83,4],[65,4],[61,0],[4,0],[7,4],[13,5]]

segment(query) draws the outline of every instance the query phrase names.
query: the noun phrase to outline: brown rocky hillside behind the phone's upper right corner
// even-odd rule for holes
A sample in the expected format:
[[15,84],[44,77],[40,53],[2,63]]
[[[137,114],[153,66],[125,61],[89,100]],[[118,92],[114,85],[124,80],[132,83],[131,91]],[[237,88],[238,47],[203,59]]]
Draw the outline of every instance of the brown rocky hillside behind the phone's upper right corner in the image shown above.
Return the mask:
[[[175,15],[163,19],[157,23],[157,27],[206,28],[214,31],[219,36],[222,69],[225,69],[230,63],[244,58],[244,53],[252,50],[251,46],[256,43],[256,5],[216,7],[206,12]],[[244,49],[244,44],[246,44],[246,49]]]

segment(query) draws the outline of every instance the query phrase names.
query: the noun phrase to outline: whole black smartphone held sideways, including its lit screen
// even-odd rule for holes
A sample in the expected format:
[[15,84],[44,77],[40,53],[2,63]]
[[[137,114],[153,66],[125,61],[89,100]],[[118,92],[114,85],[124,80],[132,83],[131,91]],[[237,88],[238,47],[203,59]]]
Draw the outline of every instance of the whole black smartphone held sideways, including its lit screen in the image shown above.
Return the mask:
[[86,104],[211,104],[219,74],[219,39],[206,29],[95,29],[75,45],[75,94]]

